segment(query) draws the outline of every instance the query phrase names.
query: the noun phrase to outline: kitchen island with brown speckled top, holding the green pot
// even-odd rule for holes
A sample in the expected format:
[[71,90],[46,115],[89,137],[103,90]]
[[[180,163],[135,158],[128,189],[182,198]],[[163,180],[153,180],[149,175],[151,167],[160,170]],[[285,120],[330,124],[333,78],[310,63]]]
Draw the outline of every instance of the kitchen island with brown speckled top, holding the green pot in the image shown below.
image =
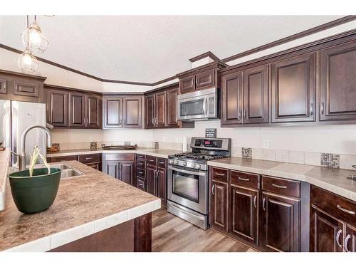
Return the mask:
[[0,251],[151,251],[157,197],[77,161],[53,205],[37,214],[16,209],[9,184],[0,211]]

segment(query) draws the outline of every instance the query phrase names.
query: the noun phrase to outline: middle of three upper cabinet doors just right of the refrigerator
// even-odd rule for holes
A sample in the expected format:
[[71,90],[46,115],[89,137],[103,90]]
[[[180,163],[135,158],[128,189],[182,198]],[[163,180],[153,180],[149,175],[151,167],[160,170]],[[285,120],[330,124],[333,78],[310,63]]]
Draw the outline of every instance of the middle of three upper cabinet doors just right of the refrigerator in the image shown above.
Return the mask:
[[85,94],[70,92],[70,127],[85,127]]

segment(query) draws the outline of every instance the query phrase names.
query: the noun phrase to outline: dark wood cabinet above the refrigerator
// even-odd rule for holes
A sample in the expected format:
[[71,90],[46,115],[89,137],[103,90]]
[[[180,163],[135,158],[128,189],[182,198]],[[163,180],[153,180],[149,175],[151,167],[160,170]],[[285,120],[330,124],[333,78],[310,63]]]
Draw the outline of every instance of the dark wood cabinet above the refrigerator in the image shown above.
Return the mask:
[[45,77],[0,70],[0,99],[43,103]]

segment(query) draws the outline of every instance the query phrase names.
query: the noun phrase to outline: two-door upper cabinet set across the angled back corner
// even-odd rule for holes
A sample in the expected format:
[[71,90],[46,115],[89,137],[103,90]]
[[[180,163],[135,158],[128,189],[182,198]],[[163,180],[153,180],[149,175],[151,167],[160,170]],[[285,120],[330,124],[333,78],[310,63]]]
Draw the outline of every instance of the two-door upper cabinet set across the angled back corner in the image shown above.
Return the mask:
[[105,95],[103,101],[103,128],[142,127],[141,95]]

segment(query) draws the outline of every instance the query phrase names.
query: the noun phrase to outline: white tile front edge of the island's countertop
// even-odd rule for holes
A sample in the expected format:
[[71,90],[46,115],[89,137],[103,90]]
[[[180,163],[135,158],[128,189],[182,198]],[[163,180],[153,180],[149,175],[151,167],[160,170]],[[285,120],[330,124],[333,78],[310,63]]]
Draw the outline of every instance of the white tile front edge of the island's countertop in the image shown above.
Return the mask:
[[152,211],[160,209],[161,199],[150,201],[140,206],[135,206],[132,209],[121,211],[117,214],[112,214],[104,218],[90,221],[89,223],[75,226],[71,229],[60,231],[56,234],[42,237],[13,248],[8,248],[3,252],[46,252],[58,246],[63,246],[78,239],[82,239],[85,236],[98,233],[112,226],[122,224],[125,221],[130,221],[139,216],[148,214]]

